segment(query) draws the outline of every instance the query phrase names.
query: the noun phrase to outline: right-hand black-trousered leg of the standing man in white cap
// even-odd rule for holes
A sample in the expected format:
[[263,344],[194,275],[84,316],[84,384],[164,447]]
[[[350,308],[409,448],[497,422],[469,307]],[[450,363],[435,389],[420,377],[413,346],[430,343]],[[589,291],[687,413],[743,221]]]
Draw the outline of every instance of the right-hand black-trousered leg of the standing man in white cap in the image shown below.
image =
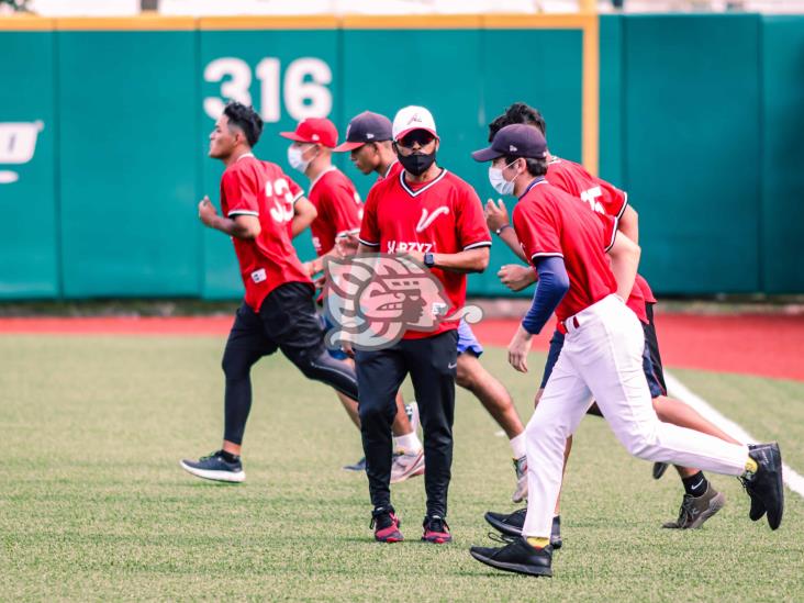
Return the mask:
[[453,467],[457,339],[457,333],[448,331],[433,337],[401,342],[424,429],[427,513],[423,539],[434,544],[451,540],[446,516]]

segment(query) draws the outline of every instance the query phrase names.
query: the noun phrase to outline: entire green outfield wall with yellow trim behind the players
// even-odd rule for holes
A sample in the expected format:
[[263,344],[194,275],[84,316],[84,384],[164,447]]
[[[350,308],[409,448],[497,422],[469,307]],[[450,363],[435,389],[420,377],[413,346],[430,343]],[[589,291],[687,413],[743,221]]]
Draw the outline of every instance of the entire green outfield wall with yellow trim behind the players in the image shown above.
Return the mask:
[[[804,293],[804,16],[0,20],[0,299],[241,295],[231,242],[197,219],[231,98],[302,187],[280,131],[424,104],[483,200],[469,153],[526,101],[554,154],[628,191],[656,292]],[[338,165],[365,196],[373,178]],[[505,294],[509,261],[495,243],[470,294]]]

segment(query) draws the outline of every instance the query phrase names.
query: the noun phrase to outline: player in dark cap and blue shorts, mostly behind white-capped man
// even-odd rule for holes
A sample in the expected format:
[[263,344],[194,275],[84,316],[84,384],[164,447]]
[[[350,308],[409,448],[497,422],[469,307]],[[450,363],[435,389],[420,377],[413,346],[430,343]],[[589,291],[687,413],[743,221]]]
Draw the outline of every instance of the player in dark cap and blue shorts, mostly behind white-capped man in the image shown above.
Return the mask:
[[[397,160],[391,142],[391,121],[384,115],[365,111],[356,115],[346,130],[346,142],[335,147],[336,152],[349,152],[355,167],[362,174],[377,174],[377,181],[399,177],[402,165]],[[513,453],[516,487],[512,495],[521,502],[527,495],[527,472],[525,467],[525,427],[505,387],[483,365],[480,355],[483,346],[474,336],[469,324],[458,324],[458,368],[455,382],[469,390],[480,400],[509,437]]]

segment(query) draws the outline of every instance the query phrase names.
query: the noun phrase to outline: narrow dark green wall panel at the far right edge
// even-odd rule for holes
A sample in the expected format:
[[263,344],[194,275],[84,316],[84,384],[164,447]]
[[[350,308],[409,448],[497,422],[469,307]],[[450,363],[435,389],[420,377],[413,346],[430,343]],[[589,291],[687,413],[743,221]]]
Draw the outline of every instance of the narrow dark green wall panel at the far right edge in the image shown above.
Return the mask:
[[804,16],[762,19],[762,289],[804,291]]

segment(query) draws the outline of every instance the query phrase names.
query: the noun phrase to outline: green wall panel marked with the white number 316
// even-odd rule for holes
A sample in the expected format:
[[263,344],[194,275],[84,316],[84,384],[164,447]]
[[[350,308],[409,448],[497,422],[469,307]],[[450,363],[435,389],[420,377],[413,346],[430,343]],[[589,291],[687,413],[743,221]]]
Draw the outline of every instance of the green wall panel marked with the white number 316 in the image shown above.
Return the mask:
[[[194,152],[202,157],[203,191],[215,203],[220,198],[223,165],[206,157],[212,115],[223,108],[222,99],[252,102],[265,120],[255,154],[279,164],[304,190],[309,181],[287,163],[290,141],[279,132],[293,130],[297,121],[330,114],[338,123],[342,71],[336,30],[202,31],[200,81],[203,104],[202,135]],[[205,230],[203,297],[241,295],[243,282],[232,242],[219,232]],[[309,233],[297,239],[303,259],[315,256]]]

